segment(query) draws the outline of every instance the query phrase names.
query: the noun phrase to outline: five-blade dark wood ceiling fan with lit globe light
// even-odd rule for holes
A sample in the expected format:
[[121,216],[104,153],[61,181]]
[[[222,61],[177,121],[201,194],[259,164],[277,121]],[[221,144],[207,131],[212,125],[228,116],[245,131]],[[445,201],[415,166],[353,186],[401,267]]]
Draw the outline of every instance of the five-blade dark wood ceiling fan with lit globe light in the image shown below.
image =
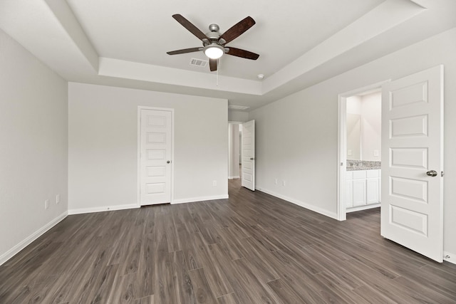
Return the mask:
[[245,19],[234,24],[228,31],[219,33],[219,26],[217,24],[209,25],[209,33],[204,34],[190,21],[180,14],[172,15],[172,18],[187,28],[190,33],[197,36],[202,41],[202,47],[199,48],[184,48],[182,50],[167,52],[169,55],[177,55],[183,53],[192,53],[203,51],[209,57],[209,69],[211,71],[217,70],[217,59],[222,57],[224,53],[228,55],[237,56],[257,60],[259,55],[240,48],[232,48],[225,46],[227,43],[233,41],[235,38],[241,36],[245,31],[254,26],[255,21],[252,17],[248,16]]

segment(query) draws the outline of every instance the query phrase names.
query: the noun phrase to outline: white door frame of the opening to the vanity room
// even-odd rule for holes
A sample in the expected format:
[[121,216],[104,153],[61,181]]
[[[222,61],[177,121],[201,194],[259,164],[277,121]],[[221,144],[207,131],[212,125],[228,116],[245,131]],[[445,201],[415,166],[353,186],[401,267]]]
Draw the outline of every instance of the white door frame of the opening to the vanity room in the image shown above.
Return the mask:
[[[361,93],[366,93],[369,90],[375,90],[382,88],[382,85],[389,83],[391,80],[383,80],[378,83],[373,83],[371,85],[366,85],[363,88],[357,88],[345,93],[338,95],[338,153],[337,153],[337,219],[338,221],[345,221],[347,219],[347,212],[345,207],[346,199],[346,161],[347,161],[347,98],[358,95]],[[383,100],[382,100],[383,102]]]

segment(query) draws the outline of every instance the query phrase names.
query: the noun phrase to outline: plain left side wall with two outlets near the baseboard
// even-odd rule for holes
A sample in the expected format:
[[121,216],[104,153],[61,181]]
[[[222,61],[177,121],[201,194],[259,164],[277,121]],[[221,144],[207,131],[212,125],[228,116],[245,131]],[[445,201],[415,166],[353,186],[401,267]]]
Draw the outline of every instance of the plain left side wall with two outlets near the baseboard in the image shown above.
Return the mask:
[[68,95],[65,80],[1,30],[0,67],[1,264],[66,216]]

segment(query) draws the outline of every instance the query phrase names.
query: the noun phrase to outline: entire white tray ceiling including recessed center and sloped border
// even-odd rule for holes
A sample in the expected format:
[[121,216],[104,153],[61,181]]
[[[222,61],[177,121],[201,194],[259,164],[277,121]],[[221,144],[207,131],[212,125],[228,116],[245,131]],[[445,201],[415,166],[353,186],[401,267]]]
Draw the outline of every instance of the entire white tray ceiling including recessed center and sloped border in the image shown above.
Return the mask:
[[[218,73],[190,66],[201,46],[172,14],[204,33],[246,16]],[[258,108],[456,26],[454,0],[1,0],[0,28],[68,81],[229,99]],[[264,80],[257,79],[264,74]],[[250,110],[249,109],[249,110]]]

